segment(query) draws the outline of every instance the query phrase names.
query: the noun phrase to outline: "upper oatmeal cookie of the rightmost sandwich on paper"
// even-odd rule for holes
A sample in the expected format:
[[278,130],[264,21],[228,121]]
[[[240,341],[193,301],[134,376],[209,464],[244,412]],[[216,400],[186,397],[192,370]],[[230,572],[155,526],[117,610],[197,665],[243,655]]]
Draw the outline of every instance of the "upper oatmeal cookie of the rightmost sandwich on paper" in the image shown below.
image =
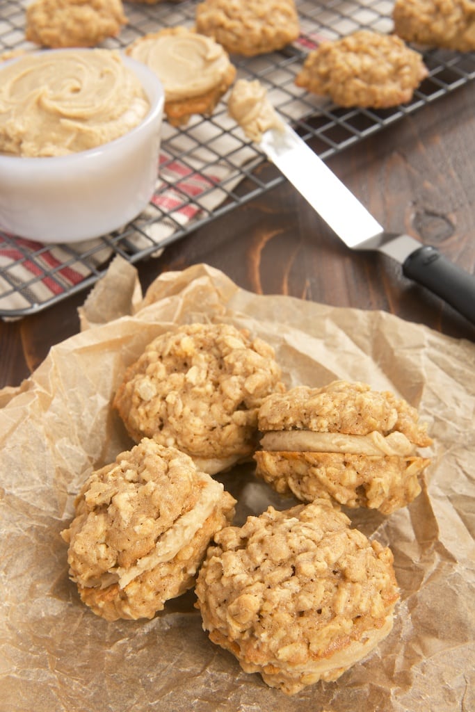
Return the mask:
[[[359,436],[373,432],[389,436],[397,432],[410,444],[427,446],[432,440],[418,419],[417,410],[390,391],[374,391],[365,383],[337,380],[322,388],[298,386],[283,394],[271,394],[259,409],[259,430]],[[348,444],[345,451],[351,451]]]

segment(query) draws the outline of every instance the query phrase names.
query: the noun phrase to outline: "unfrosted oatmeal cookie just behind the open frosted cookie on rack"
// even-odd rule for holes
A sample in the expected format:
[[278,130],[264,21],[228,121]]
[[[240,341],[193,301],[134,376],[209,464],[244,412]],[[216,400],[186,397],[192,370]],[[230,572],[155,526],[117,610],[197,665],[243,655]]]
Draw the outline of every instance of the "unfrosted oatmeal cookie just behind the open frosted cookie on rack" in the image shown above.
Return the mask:
[[299,34],[293,0],[204,0],[195,20],[198,32],[247,57],[282,49]]

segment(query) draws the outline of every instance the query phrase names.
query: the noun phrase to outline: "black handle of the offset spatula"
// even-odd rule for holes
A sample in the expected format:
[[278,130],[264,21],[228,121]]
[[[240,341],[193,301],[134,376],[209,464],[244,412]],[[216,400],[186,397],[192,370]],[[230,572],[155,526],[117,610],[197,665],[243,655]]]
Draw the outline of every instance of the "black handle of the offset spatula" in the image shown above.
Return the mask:
[[429,245],[412,252],[404,261],[402,272],[475,324],[475,275],[454,265]]

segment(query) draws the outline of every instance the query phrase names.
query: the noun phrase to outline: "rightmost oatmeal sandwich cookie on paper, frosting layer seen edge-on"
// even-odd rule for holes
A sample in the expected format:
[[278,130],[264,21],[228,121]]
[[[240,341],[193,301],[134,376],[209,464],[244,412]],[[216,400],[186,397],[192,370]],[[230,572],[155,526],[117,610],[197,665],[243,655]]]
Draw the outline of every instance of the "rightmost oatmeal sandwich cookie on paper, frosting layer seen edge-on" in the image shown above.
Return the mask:
[[259,410],[259,429],[256,475],[305,502],[329,497],[390,514],[417,497],[429,464],[417,455],[418,446],[432,443],[417,411],[359,382],[271,395]]

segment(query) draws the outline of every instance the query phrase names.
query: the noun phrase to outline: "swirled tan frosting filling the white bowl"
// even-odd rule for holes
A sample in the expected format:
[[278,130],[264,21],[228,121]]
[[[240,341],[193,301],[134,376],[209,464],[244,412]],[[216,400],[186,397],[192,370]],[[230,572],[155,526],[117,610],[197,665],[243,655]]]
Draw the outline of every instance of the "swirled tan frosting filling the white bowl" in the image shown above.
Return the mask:
[[150,103],[120,54],[43,51],[0,70],[0,152],[61,156],[118,138]]

